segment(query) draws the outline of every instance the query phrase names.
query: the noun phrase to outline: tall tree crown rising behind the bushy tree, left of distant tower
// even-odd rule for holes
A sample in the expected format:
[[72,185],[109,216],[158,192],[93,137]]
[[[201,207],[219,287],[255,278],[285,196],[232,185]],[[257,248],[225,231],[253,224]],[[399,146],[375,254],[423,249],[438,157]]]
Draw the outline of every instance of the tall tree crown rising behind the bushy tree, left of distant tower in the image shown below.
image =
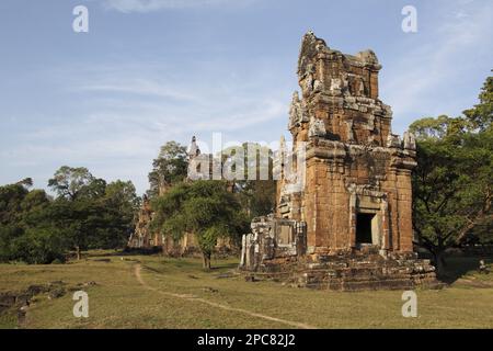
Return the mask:
[[159,195],[160,189],[171,186],[186,178],[188,163],[186,147],[176,141],[168,141],[161,147],[149,173],[149,196]]

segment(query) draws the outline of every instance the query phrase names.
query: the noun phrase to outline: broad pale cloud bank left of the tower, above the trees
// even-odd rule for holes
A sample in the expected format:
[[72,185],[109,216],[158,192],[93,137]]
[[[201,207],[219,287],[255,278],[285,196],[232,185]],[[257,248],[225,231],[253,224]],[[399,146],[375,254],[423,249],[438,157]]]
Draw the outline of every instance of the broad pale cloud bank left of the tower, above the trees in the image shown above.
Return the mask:
[[61,165],[83,165],[107,180],[133,179],[144,192],[151,161],[165,141],[186,144],[197,135],[210,143],[215,132],[244,141],[245,129],[286,120],[289,91],[264,88],[272,86],[268,81],[275,76],[260,71],[241,77],[242,83],[232,77],[217,81],[216,69],[223,66],[193,80],[181,73],[164,79],[117,65],[110,72],[96,67],[60,68],[64,75],[56,75],[62,77],[58,83],[84,104],[70,117],[57,117],[55,124],[26,123],[19,144],[0,150],[0,159],[12,167],[43,168],[31,173],[42,186]]

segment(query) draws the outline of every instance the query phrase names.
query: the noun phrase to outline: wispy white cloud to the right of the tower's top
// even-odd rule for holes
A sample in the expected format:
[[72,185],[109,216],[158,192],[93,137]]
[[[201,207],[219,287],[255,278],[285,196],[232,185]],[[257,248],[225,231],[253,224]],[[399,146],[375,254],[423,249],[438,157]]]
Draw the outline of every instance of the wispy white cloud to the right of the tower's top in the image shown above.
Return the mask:
[[[493,3],[447,2],[443,9],[442,12],[435,9],[439,14],[428,19],[433,23],[420,24],[416,42],[410,39],[399,59],[382,70],[386,78],[380,89],[382,100],[392,106],[398,129],[426,114],[467,109],[475,99],[481,82],[478,82],[477,91],[470,91],[469,95],[460,99],[454,90],[471,79],[470,72],[480,61],[490,59],[491,63],[488,43],[493,32]],[[424,16],[426,10],[419,10],[419,15]],[[422,37],[417,41],[420,35]],[[444,101],[436,100],[438,91],[442,100],[447,95],[456,98],[446,101],[444,109]]]

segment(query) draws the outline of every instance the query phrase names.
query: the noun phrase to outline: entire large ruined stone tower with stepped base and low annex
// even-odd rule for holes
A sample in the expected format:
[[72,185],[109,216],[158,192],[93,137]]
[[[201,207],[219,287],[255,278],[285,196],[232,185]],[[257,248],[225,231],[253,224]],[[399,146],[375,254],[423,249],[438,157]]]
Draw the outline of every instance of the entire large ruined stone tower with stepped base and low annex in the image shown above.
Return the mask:
[[346,55],[303,36],[288,124],[294,154],[305,146],[302,186],[278,182],[275,217],[254,220],[243,240],[243,269],[331,288],[434,281],[413,253],[414,137],[391,133],[380,69],[371,50]]

